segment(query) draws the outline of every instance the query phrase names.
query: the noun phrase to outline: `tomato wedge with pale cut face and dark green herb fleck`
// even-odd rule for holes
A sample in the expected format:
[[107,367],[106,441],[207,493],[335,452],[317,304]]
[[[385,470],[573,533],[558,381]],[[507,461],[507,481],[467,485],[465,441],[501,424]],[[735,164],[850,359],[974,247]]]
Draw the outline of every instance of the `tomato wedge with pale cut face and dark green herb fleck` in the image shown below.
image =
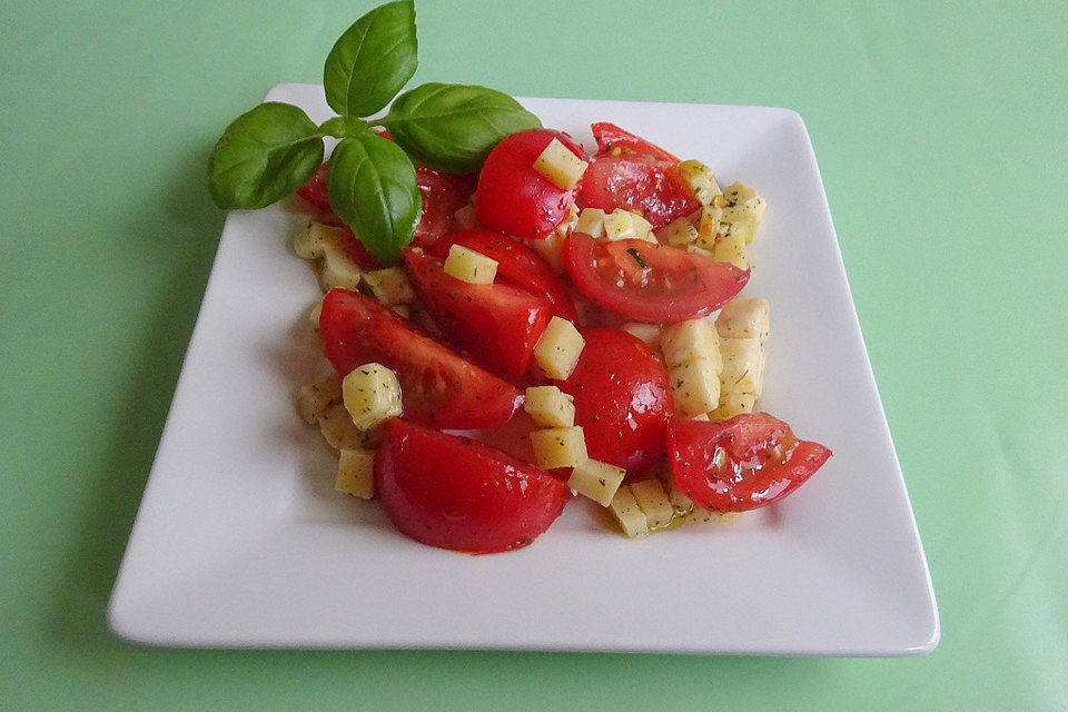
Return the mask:
[[574,233],[564,245],[567,274],[605,309],[639,322],[684,322],[726,304],[749,270],[644,240],[594,240]]

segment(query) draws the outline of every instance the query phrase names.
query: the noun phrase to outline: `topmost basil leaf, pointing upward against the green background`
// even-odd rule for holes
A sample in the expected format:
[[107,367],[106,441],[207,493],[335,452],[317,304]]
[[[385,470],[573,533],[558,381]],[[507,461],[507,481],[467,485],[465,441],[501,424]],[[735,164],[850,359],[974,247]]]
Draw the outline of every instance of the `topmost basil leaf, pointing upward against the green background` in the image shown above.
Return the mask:
[[368,116],[386,106],[418,65],[415,4],[390,2],[356,20],[326,58],[326,102],[342,116]]

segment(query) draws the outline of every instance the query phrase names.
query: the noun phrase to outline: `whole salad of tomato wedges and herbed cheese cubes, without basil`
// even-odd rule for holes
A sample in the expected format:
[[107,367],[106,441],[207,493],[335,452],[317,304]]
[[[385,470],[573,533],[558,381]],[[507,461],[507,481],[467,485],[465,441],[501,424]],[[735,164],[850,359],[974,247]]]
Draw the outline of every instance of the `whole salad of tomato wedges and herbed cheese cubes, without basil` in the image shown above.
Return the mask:
[[831,455],[758,408],[770,305],[740,293],[764,200],[591,128],[592,151],[534,128],[477,174],[418,167],[392,267],[332,210],[326,164],[297,191],[332,366],[298,409],[337,453],[336,490],[413,540],[513,550],[576,496],[645,536],[779,501]]

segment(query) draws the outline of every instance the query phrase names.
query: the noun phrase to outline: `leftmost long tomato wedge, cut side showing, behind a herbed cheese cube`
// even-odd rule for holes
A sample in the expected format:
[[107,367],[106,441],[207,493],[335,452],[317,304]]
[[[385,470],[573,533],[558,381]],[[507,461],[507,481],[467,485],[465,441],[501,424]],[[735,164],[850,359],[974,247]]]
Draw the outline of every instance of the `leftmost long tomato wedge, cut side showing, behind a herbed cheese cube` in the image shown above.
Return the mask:
[[507,423],[522,396],[511,384],[415,329],[375,300],[332,289],[319,317],[323,350],[342,376],[367,363],[392,368],[400,382],[404,416],[441,428]]

